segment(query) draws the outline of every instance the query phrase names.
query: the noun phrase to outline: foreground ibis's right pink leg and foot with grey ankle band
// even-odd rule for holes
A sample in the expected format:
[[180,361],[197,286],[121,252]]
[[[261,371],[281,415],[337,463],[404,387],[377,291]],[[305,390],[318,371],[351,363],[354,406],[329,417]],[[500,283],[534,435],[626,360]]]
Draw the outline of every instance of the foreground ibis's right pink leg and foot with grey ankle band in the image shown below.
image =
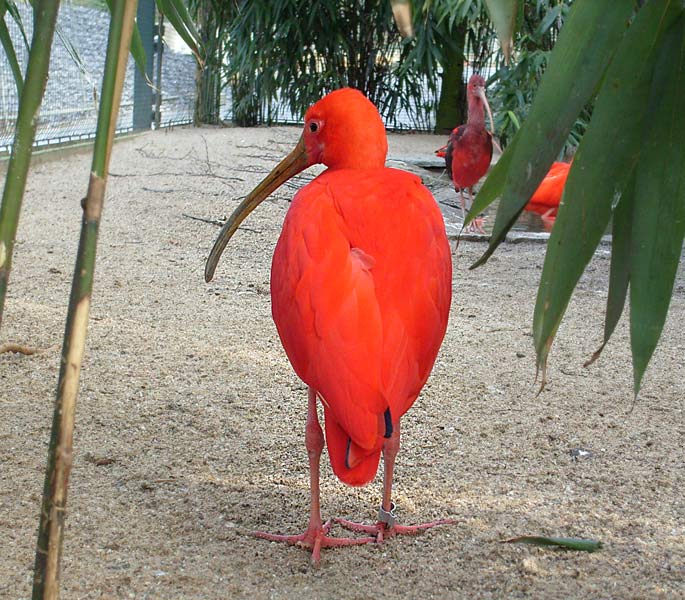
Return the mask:
[[436,525],[451,525],[454,519],[439,519],[421,525],[398,525],[395,523],[395,504],[392,501],[392,477],[395,470],[395,458],[400,450],[400,424],[397,423],[392,435],[383,446],[383,501],[378,511],[378,522],[375,525],[363,525],[347,519],[335,519],[343,527],[360,533],[374,535],[376,542],[383,542],[386,537],[402,534],[417,534]]

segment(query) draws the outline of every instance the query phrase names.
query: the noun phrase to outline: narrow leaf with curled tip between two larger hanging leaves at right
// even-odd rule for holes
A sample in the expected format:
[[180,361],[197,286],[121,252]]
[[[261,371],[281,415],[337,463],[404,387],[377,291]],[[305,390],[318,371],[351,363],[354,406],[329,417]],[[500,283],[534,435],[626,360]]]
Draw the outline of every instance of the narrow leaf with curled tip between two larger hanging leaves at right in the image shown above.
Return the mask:
[[583,365],[589,367],[595,362],[607,345],[623,314],[628,283],[630,283],[630,250],[633,227],[633,208],[635,206],[635,170],[623,189],[612,219],[611,268],[609,272],[609,294],[604,317],[604,340],[602,345]]

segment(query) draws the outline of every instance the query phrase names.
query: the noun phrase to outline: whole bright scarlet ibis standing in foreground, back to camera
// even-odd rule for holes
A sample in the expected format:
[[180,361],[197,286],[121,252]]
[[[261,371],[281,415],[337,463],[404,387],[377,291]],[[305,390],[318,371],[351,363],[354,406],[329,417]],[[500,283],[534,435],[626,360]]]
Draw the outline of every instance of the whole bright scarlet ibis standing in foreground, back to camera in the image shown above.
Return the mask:
[[[323,163],[328,169],[294,197],[271,266],[272,315],[285,352],[309,386],[305,445],[309,525],[299,535],[258,537],[320,550],[380,542],[449,520],[395,523],[392,477],[400,419],[433,367],[447,327],[452,264],[441,212],[415,175],[385,167],[387,140],[376,107],[357,90],[332,92],[305,115],[293,152],[245,198],[210,253],[205,279],[242,220],[282,183]],[[360,486],[384,457],[383,500],[375,525],[335,521],[362,538],[334,538],[319,508],[324,412],[333,472]]]

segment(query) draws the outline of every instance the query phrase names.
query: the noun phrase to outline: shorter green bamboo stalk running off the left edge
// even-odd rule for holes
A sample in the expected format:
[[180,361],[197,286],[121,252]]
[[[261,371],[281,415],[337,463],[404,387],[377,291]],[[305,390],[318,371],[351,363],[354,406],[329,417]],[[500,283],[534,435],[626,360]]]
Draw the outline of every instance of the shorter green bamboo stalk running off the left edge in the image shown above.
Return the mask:
[[26,69],[26,80],[19,98],[19,114],[14,132],[12,154],[7,165],[5,188],[0,206],[0,325],[5,307],[7,284],[12,268],[14,238],[17,234],[21,202],[26,189],[26,176],[31,163],[33,141],[38,125],[38,111],[50,66],[50,50],[55,33],[59,0],[34,3],[33,38]]

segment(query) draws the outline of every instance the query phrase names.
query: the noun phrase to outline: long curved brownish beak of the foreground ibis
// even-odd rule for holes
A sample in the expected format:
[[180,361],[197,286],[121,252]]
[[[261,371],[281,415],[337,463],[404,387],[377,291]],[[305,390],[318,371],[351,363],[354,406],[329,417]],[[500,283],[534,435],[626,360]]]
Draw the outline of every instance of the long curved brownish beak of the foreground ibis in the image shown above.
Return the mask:
[[294,177],[299,172],[304,171],[309,166],[309,157],[307,156],[307,149],[304,145],[304,138],[300,138],[295,149],[288,154],[280,163],[274,167],[259,185],[253,189],[247,197],[240,203],[240,205],[233,211],[233,214],[224,223],[219,236],[214,242],[214,247],[209,253],[207,264],[205,265],[205,281],[210,282],[214,277],[214,271],[221,254],[226,248],[229,240],[235,233],[236,229],[245,220],[263,200],[265,200],[272,192],[277,190],[288,179]]

